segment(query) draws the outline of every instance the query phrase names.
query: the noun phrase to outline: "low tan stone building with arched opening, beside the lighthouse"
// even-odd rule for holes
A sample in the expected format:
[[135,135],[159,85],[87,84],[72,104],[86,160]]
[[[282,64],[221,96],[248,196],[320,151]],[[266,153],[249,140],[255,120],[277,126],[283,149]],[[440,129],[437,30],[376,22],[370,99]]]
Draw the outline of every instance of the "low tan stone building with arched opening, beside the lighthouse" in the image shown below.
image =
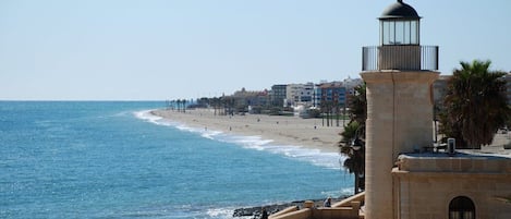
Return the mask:
[[459,196],[475,205],[476,218],[511,218],[511,159],[489,156],[401,156],[392,170],[399,219],[449,218]]

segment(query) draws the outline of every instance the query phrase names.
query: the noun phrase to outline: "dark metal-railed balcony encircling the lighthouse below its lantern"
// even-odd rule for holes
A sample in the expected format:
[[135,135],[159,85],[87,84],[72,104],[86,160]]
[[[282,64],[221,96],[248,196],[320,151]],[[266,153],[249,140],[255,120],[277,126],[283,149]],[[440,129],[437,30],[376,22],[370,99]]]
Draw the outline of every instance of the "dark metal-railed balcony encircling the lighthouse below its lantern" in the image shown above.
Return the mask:
[[384,45],[362,48],[362,71],[436,71],[438,46]]

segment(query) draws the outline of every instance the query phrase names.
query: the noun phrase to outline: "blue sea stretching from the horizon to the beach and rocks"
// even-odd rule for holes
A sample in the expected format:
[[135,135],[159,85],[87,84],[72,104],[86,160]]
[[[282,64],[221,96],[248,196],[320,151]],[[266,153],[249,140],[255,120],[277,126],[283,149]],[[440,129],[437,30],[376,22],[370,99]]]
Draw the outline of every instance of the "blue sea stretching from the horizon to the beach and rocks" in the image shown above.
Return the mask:
[[233,218],[353,192],[338,153],[193,129],[165,101],[0,101],[0,218]]

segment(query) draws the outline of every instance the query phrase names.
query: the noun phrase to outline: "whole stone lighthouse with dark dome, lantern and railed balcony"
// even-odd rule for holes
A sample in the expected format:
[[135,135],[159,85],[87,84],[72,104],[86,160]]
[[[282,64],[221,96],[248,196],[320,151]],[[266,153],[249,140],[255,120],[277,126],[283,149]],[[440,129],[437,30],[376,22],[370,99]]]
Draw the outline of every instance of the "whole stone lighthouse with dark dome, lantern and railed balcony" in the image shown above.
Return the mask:
[[419,20],[415,9],[398,0],[379,17],[380,45],[363,48],[367,219],[397,218],[392,167],[400,154],[433,145],[438,47],[421,46]]

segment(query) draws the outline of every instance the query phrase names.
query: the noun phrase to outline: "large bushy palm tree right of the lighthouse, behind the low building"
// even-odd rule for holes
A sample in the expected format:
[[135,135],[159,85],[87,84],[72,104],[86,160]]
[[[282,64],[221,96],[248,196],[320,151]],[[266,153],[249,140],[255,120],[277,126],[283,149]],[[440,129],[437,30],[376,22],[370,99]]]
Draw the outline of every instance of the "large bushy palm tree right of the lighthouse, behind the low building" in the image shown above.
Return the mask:
[[458,148],[489,145],[511,115],[507,104],[504,72],[489,71],[490,61],[461,62],[448,81],[440,114],[440,133],[457,138]]

